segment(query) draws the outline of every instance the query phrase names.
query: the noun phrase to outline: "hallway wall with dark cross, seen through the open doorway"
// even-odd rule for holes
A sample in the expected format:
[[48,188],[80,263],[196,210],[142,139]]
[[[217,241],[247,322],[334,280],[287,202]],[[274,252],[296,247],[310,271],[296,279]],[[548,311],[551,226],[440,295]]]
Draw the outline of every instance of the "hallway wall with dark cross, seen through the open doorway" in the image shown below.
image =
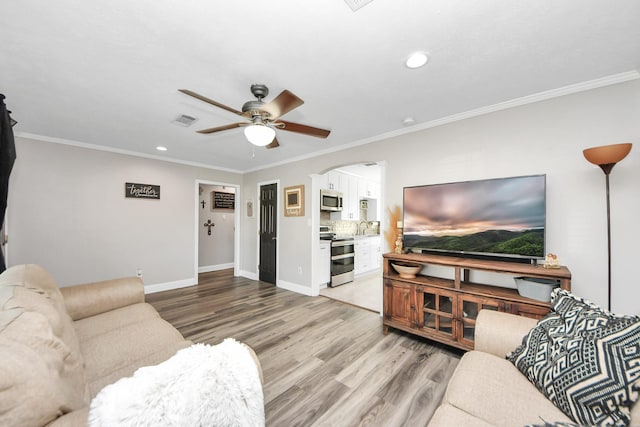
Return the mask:
[[[213,191],[235,194],[235,188],[219,185],[201,184],[202,194],[200,201],[204,200],[205,206],[198,204],[198,271],[214,271],[221,268],[233,267],[234,254],[234,211],[229,209],[213,209],[211,205],[211,193]],[[241,206],[236,200],[236,208]],[[211,220],[215,227],[211,227],[211,235],[208,234],[205,223]]]

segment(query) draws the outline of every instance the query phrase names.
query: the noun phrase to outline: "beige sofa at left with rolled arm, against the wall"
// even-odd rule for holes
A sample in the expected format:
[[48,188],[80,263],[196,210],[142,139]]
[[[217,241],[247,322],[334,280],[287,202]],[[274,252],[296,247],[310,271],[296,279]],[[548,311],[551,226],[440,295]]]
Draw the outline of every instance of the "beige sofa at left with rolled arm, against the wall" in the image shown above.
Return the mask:
[[58,288],[37,265],[12,267],[0,275],[0,425],[86,425],[104,386],[191,344],[136,277]]

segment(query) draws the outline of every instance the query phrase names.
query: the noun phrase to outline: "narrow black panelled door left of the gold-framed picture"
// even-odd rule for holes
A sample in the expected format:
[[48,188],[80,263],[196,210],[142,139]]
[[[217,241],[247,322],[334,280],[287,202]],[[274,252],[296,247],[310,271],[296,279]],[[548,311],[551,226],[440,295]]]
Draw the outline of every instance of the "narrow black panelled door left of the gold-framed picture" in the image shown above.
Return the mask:
[[276,283],[276,184],[260,186],[260,280]]

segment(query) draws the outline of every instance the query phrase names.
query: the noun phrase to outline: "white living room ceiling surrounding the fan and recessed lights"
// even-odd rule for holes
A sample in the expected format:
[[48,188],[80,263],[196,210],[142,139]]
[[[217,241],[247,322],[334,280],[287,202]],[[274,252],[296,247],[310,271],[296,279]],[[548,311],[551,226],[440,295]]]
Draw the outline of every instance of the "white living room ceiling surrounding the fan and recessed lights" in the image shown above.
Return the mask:
[[[639,21],[637,0],[6,1],[0,93],[18,135],[249,171],[638,70]],[[415,50],[430,61],[410,70]],[[238,117],[178,89],[240,109],[256,82],[302,98],[283,119],[329,138],[195,133]]]

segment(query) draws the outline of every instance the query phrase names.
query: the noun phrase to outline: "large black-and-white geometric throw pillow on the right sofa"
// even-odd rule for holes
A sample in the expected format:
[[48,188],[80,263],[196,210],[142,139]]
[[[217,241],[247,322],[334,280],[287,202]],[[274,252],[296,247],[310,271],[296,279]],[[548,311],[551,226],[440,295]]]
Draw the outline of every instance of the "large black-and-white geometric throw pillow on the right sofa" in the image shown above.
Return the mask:
[[640,317],[557,288],[549,314],[507,359],[574,421],[626,426],[640,392]]

